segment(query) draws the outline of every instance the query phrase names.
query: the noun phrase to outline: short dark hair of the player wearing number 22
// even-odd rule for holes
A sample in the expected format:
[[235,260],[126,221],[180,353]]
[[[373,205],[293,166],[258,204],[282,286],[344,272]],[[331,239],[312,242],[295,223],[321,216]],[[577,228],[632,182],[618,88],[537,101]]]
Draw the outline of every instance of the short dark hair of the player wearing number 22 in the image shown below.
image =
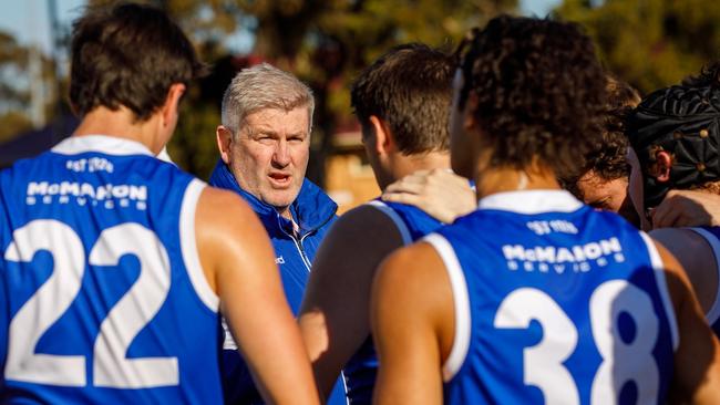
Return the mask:
[[89,9],[73,23],[71,49],[70,101],[80,116],[122,105],[146,121],[172,84],[205,70],[179,27],[148,6]]

